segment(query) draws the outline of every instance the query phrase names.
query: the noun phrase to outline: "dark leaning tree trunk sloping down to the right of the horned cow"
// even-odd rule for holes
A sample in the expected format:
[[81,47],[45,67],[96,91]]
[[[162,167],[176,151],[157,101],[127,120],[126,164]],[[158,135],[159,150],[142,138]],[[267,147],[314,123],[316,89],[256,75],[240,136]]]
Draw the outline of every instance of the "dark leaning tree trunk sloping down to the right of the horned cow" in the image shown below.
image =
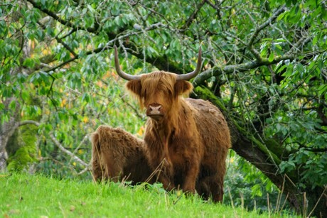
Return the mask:
[[[278,165],[272,163],[267,153],[261,151],[259,147],[254,146],[252,141],[243,136],[231,120],[228,121],[228,126],[231,132],[232,150],[262,171],[279,190],[283,190],[284,195],[288,195],[291,206],[298,214],[307,216],[312,212],[313,216],[327,217],[326,188],[316,187],[312,190],[311,187],[308,187],[306,192],[300,192],[292,182],[292,177],[280,174]],[[314,208],[315,205],[316,208]]]

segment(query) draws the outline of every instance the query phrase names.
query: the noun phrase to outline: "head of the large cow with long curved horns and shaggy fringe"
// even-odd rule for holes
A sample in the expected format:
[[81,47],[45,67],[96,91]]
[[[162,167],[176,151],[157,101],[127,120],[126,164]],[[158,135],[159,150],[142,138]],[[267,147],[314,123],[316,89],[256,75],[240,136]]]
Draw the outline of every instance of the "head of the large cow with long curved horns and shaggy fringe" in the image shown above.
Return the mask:
[[127,82],[127,89],[136,94],[140,106],[146,109],[146,115],[160,121],[169,116],[178,107],[181,94],[189,94],[193,86],[191,78],[198,75],[201,69],[201,48],[198,53],[198,64],[193,72],[176,75],[171,72],[155,71],[144,75],[129,75],[119,67],[117,47],[114,46],[114,64],[118,75]]

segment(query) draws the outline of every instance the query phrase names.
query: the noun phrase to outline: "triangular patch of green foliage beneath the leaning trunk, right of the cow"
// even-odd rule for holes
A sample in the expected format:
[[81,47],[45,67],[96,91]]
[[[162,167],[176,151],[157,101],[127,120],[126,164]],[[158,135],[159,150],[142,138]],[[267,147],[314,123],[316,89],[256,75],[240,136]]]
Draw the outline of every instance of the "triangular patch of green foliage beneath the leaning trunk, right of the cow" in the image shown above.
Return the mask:
[[[224,204],[245,207],[257,212],[269,210],[287,214],[291,209],[285,196],[286,193],[281,193],[267,176],[237,156],[235,152],[230,152],[225,177]],[[285,205],[281,205],[280,202]]]

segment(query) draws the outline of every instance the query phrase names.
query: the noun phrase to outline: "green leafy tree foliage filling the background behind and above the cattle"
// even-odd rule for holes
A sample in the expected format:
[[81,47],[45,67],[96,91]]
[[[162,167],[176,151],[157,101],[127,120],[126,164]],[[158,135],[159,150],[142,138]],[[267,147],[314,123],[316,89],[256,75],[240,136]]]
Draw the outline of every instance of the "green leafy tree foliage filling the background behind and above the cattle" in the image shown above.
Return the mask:
[[[235,141],[264,153],[260,164],[272,166],[264,173],[286,173],[297,194],[326,184],[326,1],[26,2],[0,6],[0,125],[16,109],[18,120],[38,122],[31,139],[39,141],[38,171],[85,172],[58,144],[88,163],[88,137],[100,124],[142,136],[144,113],[114,73],[113,45],[131,74],[191,72],[201,46],[195,92],[225,112]],[[20,149],[24,165],[36,155]],[[242,170],[255,183],[252,193],[265,197],[269,182]],[[254,197],[244,188],[245,199]]]

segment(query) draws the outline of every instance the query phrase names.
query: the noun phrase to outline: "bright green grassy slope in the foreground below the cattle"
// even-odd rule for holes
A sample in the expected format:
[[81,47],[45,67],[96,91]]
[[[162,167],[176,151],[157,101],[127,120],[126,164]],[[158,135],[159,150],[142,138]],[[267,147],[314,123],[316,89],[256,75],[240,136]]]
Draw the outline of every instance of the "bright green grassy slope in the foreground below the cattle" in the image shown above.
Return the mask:
[[280,217],[203,202],[160,185],[0,174],[0,217]]

